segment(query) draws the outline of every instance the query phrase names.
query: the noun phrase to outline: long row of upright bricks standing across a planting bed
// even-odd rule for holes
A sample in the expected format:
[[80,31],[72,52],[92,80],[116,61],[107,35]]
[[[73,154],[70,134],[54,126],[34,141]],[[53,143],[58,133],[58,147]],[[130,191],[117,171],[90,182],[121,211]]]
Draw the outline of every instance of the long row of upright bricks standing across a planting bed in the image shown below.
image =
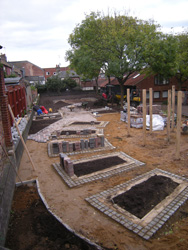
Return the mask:
[[94,149],[98,147],[104,147],[104,136],[98,135],[94,138],[89,138],[88,140],[81,139],[80,141],[76,142],[54,142],[52,143],[52,150],[54,154],[58,153],[71,153],[74,151],[82,151],[88,149]]

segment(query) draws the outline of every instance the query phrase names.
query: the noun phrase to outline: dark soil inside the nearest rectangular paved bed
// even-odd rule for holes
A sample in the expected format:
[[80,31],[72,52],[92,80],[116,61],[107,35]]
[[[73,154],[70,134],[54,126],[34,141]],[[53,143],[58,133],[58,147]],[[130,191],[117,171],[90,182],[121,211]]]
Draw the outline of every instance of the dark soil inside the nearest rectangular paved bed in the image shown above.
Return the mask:
[[178,185],[168,177],[155,175],[114,197],[113,201],[141,219],[170,195]]

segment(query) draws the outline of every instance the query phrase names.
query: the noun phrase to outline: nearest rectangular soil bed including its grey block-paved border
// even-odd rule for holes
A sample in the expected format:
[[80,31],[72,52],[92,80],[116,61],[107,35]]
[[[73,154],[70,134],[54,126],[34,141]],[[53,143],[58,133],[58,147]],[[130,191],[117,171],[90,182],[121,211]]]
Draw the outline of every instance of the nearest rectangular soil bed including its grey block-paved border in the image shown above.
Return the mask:
[[144,239],[150,237],[188,198],[188,179],[154,169],[86,200]]

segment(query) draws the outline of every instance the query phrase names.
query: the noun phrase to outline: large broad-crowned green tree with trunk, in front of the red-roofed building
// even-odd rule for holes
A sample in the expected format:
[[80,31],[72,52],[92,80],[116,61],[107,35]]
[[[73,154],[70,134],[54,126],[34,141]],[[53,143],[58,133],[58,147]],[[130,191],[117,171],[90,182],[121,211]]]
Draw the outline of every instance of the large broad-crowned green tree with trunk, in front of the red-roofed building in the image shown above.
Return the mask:
[[153,21],[91,13],[75,28],[69,43],[72,50],[67,58],[76,71],[94,74],[103,69],[107,76],[117,78],[121,105],[124,84],[133,72],[147,69],[167,77],[176,70],[175,40],[159,32]]

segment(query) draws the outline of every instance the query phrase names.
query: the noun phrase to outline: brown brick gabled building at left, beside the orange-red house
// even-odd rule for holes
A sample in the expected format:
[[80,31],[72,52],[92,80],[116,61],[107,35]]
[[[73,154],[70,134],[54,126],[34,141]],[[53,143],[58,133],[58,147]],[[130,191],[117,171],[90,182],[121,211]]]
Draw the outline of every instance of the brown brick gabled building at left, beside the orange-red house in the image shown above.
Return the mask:
[[23,71],[23,77],[29,81],[31,85],[45,84],[44,70],[29,61],[9,62],[12,67],[16,67]]

